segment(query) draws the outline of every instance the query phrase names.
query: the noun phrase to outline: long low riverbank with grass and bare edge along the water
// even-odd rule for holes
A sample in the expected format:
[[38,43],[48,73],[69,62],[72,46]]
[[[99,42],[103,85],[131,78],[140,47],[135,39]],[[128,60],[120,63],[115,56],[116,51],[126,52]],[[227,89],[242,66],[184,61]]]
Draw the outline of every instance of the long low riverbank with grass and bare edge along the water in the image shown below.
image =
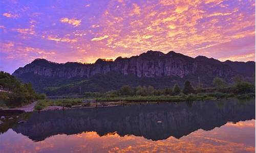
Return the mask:
[[[108,107],[121,105],[143,105],[148,103],[160,102],[181,102],[181,101],[197,101],[197,100],[217,100],[236,98],[255,97],[254,93],[234,95],[227,93],[208,93],[208,94],[181,94],[176,96],[161,95],[161,96],[118,96],[118,97],[98,97],[90,100],[83,98],[62,98],[62,99],[41,99],[35,106],[35,111],[45,110],[61,110],[61,109],[77,109],[91,107]],[[86,101],[86,102],[84,102]],[[89,101],[89,102],[88,102]],[[90,102],[93,101],[93,102]]]

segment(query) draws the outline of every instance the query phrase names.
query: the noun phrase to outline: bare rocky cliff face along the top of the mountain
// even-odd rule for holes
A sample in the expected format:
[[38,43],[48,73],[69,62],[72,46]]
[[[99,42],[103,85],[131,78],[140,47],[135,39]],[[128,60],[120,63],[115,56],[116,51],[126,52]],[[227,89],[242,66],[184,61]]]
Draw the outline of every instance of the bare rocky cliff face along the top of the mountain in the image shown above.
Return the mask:
[[94,64],[74,62],[58,64],[45,59],[36,59],[25,67],[18,68],[13,75],[19,77],[24,73],[31,73],[49,78],[89,78],[98,73],[105,74],[111,71],[124,75],[135,74],[138,78],[163,76],[183,78],[189,74],[201,73],[226,78],[237,74],[234,68],[218,60],[208,59],[206,57],[197,57],[194,59],[175,52],[164,54],[148,51],[131,58],[117,58],[115,61],[98,59]]

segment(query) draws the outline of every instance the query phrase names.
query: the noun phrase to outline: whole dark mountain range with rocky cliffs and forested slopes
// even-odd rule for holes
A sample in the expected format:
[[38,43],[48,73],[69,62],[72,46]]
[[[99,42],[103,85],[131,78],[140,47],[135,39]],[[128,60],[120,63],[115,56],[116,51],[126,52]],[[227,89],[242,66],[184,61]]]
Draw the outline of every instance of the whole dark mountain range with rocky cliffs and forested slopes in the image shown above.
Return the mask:
[[119,89],[122,85],[171,87],[189,80],[208,87],[215,77],[227,83],[240,75],[252,80],[255,62],[221,62],[198,56],[191,58],[173,51],[164,54],[149,50],[139,56],[118,57],[114,61],[98,59],[94,64],[67,62],[59,64],[46,59],[35,59],[19,67],[12,75],[25,83],[32,83],[38,92],[47,95],[78,94],[80,91],[103,92]]

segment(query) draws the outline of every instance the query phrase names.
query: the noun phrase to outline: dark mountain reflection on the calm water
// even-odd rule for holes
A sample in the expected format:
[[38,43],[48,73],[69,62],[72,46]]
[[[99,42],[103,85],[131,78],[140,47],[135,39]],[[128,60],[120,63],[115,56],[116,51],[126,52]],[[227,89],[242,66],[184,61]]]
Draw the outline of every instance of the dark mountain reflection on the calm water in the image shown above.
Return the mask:
[[12,129],[33,141],[90,131],[99,136],[116,132],[156,141],[249,119],[255,119],[255,99],[34,112],[26,123]]

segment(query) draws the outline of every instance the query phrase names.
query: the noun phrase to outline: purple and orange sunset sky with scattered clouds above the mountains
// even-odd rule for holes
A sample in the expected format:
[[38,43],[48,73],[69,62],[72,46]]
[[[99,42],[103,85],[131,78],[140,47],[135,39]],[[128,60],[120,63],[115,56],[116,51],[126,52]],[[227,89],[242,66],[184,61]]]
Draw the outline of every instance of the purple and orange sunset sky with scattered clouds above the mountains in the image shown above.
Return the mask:
[[174,50],[255,61],[255,1],[0,0],[0,70]]

